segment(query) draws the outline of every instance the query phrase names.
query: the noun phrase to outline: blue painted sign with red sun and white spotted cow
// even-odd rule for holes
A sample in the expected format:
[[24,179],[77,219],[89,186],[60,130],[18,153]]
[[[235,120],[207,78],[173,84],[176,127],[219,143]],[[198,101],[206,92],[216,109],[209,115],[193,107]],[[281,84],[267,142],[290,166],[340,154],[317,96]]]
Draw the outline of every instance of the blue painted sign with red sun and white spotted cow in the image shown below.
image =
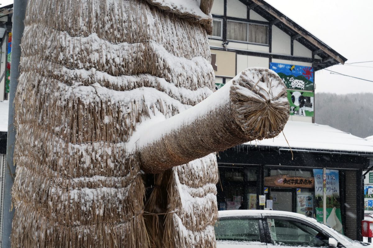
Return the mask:
[[313,67],[270,63],[269,68],[280,76],[288,89],[314,90]]

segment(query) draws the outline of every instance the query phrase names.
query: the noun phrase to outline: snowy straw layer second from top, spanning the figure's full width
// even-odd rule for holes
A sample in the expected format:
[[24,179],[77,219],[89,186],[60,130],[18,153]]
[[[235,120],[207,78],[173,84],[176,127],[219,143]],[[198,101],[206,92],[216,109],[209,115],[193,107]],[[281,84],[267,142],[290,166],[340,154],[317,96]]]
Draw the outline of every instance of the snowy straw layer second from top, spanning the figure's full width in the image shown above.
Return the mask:
[[[23,57],[40,55],[68,68],[94,68],[113,76],[148,73],[162,77],[176,87],[189,85],[192,90],[207,83],[213,88],[214,72],[209,58],[177,57],[152,40],[112,44],[97,34],[73,37],[40,25],[25,28],[23,39],[34,41],[22,45]],[[199,84],[195,85],[197,82]]]

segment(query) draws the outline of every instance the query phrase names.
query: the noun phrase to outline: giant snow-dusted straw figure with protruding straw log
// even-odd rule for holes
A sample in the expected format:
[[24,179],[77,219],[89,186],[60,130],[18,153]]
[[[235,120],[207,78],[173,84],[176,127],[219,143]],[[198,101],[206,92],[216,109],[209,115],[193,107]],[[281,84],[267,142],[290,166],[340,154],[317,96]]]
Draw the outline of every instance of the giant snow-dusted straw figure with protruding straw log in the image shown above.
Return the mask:
[[214,152],[278,135],[289,104],[264,68],[213,93],[212,1],[29,0],[13,248],[216,246]]

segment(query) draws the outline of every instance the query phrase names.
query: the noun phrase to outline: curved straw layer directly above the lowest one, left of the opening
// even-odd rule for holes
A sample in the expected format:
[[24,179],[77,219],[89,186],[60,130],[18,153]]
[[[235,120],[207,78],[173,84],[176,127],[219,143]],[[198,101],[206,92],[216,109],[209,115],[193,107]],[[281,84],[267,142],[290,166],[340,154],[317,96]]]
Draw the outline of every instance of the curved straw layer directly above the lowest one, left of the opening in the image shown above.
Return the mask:
[[[131,178],[127,186],[118,183],[108,187],[103,181],[100,187],[65,188],[25,167],[18,169],[17,175],[24,179],[13,187],[13,200],[18,202],[15,207],[28,203],[29,208],[61,225],[115,224],[130,220],[144,209],[142,201],[138,201],[145,191],[141,177]],[[73,180],[65,180],[64,184],[70,181]]]

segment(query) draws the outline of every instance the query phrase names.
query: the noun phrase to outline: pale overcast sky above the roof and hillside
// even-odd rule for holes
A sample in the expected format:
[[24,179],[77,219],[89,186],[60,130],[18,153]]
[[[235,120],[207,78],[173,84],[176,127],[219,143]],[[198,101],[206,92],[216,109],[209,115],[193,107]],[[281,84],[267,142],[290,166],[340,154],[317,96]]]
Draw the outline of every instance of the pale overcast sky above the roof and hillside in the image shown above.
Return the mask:
[[[347,63],[373,61],[373,1],[266,1],[347,58]],[[0,3],[5,6],[13,0],[0,0]],[[335,65],[328,69],[373,81],[373,62]],[[316,72],[315,83],[316,93],[373,93],[373,82],[334,75],[325,70]]]

